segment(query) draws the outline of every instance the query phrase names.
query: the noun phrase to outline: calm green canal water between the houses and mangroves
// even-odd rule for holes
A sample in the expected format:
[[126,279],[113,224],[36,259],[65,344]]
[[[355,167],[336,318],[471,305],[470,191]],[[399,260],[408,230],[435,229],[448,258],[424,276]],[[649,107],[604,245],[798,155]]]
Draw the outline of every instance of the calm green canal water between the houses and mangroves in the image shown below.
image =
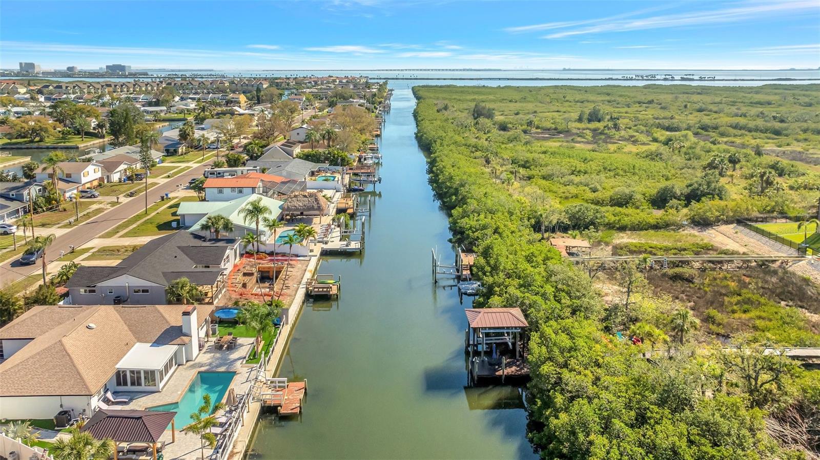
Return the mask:
[[465,389],[469,300],[432,283],[430,248],[453,251],[398,84],[365,251],[322,262],[339,301],[307,304],[280,369],[307,379],[303,416],[262,416],[249,458],[535,458],[518,389]]

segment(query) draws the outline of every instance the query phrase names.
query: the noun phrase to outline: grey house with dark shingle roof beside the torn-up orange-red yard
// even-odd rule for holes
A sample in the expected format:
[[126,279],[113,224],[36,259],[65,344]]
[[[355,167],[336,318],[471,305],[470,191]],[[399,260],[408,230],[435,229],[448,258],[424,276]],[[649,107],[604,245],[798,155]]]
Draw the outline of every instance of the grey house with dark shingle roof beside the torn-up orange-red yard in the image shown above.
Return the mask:
[[80,266],[66,283],[75,305],[154,305],[168,303],[166,288],[188,278],[215,303],[239,257],[235,239],[203,239],[185,231],[152,239],[116,266]]

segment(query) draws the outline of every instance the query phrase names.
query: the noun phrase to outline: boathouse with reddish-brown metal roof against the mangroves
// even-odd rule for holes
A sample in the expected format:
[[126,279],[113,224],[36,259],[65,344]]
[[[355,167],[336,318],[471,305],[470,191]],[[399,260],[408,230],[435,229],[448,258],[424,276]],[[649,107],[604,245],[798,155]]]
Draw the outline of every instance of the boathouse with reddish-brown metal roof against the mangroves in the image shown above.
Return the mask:
[[521,332],[529,326],[521,308],[465,308],[467,322],[467,349],[487,351],[487,344],[508,344],[515,349],[515,358],[521,358]]

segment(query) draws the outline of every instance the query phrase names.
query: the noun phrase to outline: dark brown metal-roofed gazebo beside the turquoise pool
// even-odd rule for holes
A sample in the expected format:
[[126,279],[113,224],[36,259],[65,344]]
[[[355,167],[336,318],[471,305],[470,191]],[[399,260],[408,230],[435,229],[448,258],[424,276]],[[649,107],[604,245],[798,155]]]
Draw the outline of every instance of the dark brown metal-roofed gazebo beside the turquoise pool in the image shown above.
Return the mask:
[[176,441],[175,415],[176,412],[100,408],[81,431],[88,431],[97,440],[113,440],[114,460],[119,456],[121,443],[146,444],[153,460],[157,460],[157,443],[169,425],[171,442]]

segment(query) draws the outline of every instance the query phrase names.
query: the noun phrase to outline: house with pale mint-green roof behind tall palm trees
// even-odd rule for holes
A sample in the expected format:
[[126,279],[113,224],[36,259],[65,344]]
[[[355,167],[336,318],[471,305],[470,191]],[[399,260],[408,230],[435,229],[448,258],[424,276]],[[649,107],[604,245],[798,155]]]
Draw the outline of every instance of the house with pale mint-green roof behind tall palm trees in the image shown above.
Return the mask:
[[[223,202],[184,201],[180,203],[180,207],[176,213],[180,216],[180,224],[182,224],[183,227],[189,227],[189,232],[195,235],[201,235],[205,238],[213,236],[211,229],[205,226],[207,216],[225,216],[233,223],[234,230],[227,234],[221,234],[220,237],[227,236],[229,238],[239,239],[246,233],[256,234],[256,224],[254,222],[246,222],[240,214],[240,211],[245,203],[257,198],[262,199],[262,204],[271,208],[269,218],[278,219],[280,217],[283,203],[279,200],[258,194]],[[271,238],[271,234],[262,228],[259,229],[258,236],[261,241],[267,241]]]

